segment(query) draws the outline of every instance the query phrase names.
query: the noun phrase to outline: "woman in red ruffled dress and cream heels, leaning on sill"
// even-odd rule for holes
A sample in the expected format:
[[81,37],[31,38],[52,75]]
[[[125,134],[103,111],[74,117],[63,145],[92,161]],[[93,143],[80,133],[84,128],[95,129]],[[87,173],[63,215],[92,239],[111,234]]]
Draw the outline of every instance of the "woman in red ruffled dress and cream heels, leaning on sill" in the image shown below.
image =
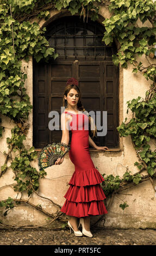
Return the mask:
[[[69,181],[65,198],[66,201],[60,211],[70,216],[68,226],[74,231],[74,235],[83,234],[92,237],[90,232],[90,216],[107,214],[103,200],[106,198],[100,186],[104,181],[102,175],[95,168],[89,153],[89,144],[98,150],[108,150],[107,147],[98,147],[89,136],[89,125],[91,119],[84,114],[85,111],[81,102],[81,93],[78,81],[70,78],[66,83],[63,106],[65,112],[61,114],[62,138],[61,142],[70,140],[69,130],[72,132],[71,149],[69,156],[74,164],[75,170]],[[92,130],[93,136],[96,133]],[[61,164],[63,159],[58,159],[55,164]],[[82,224],[82,232],[78,229]]]

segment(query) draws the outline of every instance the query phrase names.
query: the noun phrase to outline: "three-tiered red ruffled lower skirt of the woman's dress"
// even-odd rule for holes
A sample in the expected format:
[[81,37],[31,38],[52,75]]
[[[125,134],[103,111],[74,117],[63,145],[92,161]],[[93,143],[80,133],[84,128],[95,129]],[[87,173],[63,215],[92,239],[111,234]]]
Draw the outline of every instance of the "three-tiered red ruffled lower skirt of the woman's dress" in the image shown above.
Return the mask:
[[75,170],[60,211],[78,218],[107,214],[103,202],[106,197],[100,185],[102,181],[104,179],[96,168]]

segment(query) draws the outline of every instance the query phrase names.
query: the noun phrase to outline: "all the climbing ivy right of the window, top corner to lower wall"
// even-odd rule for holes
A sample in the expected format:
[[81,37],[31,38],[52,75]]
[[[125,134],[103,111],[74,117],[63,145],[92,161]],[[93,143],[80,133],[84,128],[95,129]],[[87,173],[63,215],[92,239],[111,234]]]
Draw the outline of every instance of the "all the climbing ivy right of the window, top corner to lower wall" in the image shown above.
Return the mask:
[[[111,191],[120,190],[121,185],[125,182],[132,182],[138,184],[143,179],[150,180],[154,188],[153,179],[155,175],[155,156],[156,151],[152,151],[148,142],[151,139],[155,140],[156,129],[156,5],[154,1],[116,1],[110,0],[109,11],[112,13],[110,19],[104,20],[106,32],[104,33],[103,40],[105,44],[113,41],[114,36],[120,42],[120,47],[116,55],[113,55],[113,62],[115,65],[119,63],[123,68],[127,68],[129,62],[134,66],[133,72],[142,72],[146,80],[151,80],[152,84],[146,92],[145,99],[140,96],[137,99],[127,101],[127,113],[130,109],[133,113],[133,118],[126,123],[127,118],[117,127],[120,137],[131,136],[136,154],[138,155],[139,162],[135,162],[134,166],[138,167],[139,172],[136,175],[125,173],[123,179],[118,176],[114,177],[109,175],[105,179],[105,185],[109,185]],[[139,27],[136,21],[145,23],[150,22],[151,26]],[[148,65],[143,66],[139,57],[145,55]],[[141,162],[141,163],[140,163]],[[141,172],[147,171],[146,176],[141,177]],[[125,176],[126,175],[126,176]],[[105,187],[107,193],[107,186]],[[155,188],[154,188],[155,191]],[[122,207],[123,206],[123,207]],[[121,205],[124,209],[127,205]]]

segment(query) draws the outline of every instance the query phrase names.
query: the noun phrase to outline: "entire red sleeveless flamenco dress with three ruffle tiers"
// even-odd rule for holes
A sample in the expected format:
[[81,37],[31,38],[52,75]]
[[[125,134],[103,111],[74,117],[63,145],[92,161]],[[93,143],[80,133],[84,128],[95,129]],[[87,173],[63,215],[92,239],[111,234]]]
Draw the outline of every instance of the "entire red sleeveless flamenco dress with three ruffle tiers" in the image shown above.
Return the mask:
[[72,115],[69,126],[72,131],[69,156],[75,171],[68,183],[70,187],[60,211],[78,218],[107,214],[103,202],[106,197],[100,185],[104,179],[95,168],[89,153],[89,118],[84,113],[65,113]]

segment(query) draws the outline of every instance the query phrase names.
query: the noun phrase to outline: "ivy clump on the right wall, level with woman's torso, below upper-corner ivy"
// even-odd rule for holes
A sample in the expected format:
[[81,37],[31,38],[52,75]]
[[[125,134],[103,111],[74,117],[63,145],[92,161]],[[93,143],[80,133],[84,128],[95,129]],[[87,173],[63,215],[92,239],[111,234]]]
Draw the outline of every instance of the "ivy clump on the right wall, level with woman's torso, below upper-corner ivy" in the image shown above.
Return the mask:
[[[139,96],[137,99],[127,101],[128,109],[135,113],[135,117],[130,119],[128,123],[127,118],[124,123],[117,127],[117,131],[120,133],[120,137],[132,136],[134,146],[136,150],[140,150],[139,154],[147,165],[147,172],[149,175],[155,174],[155,157],[156,152],[151,150],[148,142],[151,138],[156,138],[156,97],[153,95],[151,100],[141,100]],[[127,109],[127,113],[128,113]],[[154,113],[155,112],[155,113]],[[139,169],[142,167],[136,165]]]

